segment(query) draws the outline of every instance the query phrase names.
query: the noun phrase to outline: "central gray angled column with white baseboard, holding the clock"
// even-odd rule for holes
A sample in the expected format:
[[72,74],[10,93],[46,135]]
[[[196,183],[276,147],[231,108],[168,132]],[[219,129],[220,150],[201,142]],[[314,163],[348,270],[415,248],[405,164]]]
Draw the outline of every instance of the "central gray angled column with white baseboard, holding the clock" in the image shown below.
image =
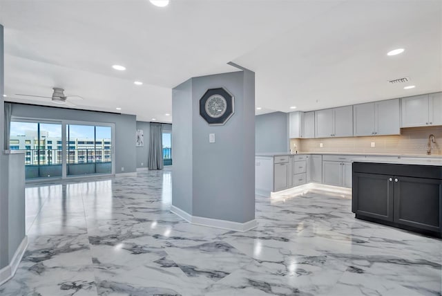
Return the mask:
[[[256,226],[255,73],[241,69],[173,89],[172,212],[191,223],[247,231]],[[234,113],[223,125],[209,125],[200,99],[221,87],[233,95]]]

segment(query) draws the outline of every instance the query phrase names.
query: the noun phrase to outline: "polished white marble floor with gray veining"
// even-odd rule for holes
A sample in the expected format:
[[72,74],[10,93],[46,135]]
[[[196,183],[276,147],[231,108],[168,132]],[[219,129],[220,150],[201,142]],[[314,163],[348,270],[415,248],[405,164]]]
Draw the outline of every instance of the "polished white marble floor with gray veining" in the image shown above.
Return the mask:
[[441,295],[442,241],[309,192],[256,198],[246,233],[169,212],[171,171],[32,185],[30,244],[0,295]]

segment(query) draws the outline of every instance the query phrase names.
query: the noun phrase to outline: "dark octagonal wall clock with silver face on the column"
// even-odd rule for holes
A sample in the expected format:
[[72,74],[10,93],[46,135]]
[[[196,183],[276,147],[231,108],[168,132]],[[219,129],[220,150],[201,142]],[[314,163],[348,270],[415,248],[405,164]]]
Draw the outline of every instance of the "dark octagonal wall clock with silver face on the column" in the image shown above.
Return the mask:
[[223,125],[235,111],[235,98],[224,89],[208,89],[200,98],[200,115],[209,125]]

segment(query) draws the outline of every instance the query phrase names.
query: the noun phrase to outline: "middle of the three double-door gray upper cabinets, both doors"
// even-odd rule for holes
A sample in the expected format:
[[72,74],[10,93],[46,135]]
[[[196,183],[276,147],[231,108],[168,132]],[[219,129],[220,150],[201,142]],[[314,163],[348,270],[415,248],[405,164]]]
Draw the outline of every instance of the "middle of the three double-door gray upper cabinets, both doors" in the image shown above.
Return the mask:
[[399,99],[354,105],[354,136],[400,134],[399,112]]

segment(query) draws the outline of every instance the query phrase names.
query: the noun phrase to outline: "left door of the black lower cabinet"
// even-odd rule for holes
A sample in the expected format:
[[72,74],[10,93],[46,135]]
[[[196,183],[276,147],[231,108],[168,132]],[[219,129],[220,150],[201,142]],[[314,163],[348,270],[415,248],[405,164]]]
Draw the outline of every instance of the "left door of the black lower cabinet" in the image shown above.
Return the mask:
[[393,221],[393,176],[354,173],[352,211],[357,215]]

